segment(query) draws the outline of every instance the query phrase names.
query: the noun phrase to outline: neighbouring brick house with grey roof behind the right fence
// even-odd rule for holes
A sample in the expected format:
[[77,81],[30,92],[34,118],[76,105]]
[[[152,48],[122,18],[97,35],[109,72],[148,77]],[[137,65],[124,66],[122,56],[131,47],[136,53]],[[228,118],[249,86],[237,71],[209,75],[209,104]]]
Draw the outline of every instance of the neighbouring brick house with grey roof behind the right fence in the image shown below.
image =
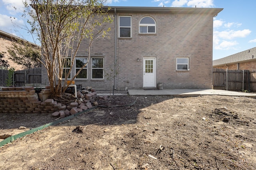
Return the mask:
[[256,69],[256,47],[214,60],[213,68],[222,68],[228,70],[255,70]]

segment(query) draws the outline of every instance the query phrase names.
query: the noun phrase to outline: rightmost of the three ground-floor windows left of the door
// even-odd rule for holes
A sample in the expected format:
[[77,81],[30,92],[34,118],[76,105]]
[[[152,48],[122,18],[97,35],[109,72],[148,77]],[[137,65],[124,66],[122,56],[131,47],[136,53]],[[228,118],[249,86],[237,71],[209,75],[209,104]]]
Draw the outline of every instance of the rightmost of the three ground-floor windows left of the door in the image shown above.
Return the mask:
[[92,57],[92,79],[104,78],[104,58]]

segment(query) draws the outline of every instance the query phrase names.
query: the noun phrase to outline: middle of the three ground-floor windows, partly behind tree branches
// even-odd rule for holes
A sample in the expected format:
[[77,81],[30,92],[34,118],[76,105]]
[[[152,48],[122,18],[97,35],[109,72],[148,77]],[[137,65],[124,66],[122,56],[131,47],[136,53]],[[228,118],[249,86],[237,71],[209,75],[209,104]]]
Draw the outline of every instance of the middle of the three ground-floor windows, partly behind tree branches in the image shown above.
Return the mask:
[[[76,73],[87,63],[87,57],[76,57]],[[87,65],[76,76],[76,79],[87,79]]]

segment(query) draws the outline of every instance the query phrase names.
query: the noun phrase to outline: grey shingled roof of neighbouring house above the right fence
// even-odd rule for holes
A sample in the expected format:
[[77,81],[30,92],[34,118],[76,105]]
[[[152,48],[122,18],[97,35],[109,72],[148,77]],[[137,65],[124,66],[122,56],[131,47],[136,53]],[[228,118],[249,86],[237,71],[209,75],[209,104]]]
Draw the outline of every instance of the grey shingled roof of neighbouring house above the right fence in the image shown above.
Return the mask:
[[256,47],[212,61],[212,66],[221,66],[224,64],[244,63],[256,60]]

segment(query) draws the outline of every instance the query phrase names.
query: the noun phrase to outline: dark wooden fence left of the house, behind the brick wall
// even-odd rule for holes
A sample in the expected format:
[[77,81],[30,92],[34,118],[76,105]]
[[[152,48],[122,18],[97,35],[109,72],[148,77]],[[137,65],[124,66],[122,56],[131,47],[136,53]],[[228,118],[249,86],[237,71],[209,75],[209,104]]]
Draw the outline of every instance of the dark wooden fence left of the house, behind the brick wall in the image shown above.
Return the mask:
[[[0,70],[0,86],[6,86],[8,70]],[[25,86],[25,84],[41,84],[41,68],[18,70],[14,72],[14,86]]]

